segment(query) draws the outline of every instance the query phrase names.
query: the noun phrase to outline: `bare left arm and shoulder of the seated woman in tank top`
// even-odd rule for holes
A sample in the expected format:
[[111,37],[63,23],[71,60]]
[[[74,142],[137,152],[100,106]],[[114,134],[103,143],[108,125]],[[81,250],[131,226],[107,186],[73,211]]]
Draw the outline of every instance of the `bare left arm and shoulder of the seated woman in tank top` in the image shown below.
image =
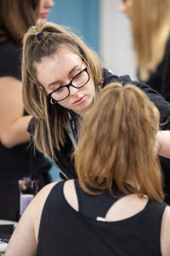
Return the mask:
[[55,183],[45,186],[31,201],[20,218],[8,243],[5,256],[35,256],[37,255],[37,240],[42,208],[49,192]]

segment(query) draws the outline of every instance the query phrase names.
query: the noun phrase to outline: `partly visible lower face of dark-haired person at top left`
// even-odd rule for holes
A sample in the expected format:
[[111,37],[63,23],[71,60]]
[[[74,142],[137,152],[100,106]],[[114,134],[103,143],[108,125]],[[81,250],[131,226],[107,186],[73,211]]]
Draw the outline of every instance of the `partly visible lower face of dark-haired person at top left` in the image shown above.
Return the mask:
[[40,0],[39,18],[41,18],[42,20],[47,20],[50,9],[53,6],[53,0]]

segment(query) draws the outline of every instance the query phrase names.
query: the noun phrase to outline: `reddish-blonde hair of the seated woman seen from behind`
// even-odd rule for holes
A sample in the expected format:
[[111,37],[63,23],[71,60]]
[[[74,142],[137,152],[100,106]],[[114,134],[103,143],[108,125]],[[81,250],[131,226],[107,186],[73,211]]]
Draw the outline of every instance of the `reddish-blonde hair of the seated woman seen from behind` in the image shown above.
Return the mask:
[[[113,180],[125,195],[163,200],[156,157],[159,112],[134,85],[109,84],[84,120],[75,151],[79,182],[89,194],[109,189]],[[130,185],[129,185],[130,184]]]

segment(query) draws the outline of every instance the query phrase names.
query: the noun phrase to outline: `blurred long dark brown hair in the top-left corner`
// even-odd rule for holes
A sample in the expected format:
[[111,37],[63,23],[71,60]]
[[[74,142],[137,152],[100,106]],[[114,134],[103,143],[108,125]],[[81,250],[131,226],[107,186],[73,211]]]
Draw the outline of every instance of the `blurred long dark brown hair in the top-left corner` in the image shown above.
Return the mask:
[[1,0],[0,43],[8,38],[22,44],[23,35],[36,23],[40,0]]

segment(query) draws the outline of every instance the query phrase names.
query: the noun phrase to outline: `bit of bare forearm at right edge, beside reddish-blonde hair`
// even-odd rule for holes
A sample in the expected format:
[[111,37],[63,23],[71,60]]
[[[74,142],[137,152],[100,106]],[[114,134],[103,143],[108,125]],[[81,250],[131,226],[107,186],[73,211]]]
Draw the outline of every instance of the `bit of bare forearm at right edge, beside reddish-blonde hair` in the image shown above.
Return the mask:
[[170,131],[158,131],[157,133],[157,154],[170,158]]

